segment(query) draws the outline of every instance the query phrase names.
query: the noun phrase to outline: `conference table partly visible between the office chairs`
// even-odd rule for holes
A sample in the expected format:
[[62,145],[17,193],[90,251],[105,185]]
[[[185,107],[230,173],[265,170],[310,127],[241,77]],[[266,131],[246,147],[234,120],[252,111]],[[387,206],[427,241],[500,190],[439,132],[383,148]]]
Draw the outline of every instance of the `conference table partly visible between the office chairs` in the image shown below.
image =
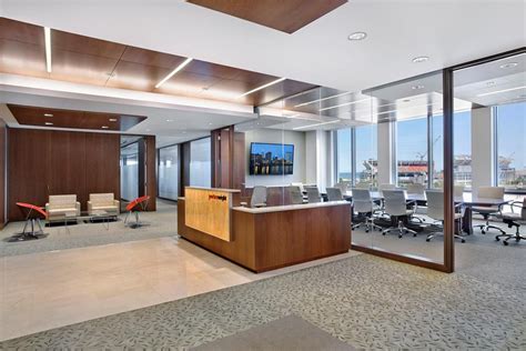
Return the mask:
[[[353,191],[346,191],[343,197],[344,199],[351,200],[353,198]],[[382,194],[382,191],[371,191],[371,199],[373,201],[382,201],[384,195]],[[418,204],[427,202],[425,193],[406,193],[406,200],[408,203],[415,202]],[[464,208],[462,231],[468,235],[473,234],[473,207],[500,207],[509,203],[509,201],[510,200],[481,198],[467,192],[465,192],[462,197],[455,197],[455,204]]]

